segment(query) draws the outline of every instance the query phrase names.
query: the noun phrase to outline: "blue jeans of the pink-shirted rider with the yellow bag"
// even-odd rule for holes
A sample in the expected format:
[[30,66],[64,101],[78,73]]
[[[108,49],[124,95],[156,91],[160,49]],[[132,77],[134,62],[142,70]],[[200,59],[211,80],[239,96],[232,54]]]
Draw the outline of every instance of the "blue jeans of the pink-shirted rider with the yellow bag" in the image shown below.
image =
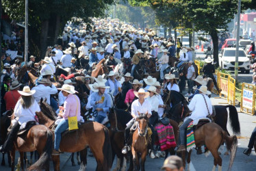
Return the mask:
[[61,120],[55,129],[55,140],[54,140],[54,149],[59,150],[60,140],[62,140],[62,133],[68,129],[68,120]]

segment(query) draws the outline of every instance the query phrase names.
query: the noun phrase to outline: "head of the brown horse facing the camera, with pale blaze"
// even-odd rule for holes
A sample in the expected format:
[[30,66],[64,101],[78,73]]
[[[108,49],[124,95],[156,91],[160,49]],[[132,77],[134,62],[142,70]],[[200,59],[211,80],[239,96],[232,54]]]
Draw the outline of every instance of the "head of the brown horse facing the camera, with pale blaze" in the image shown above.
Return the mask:
[[138,111],[138,114],[139,117],[136,119],[136,121],[138,121],[139,135],[144,137],[148,130],[148,112],[146,112],[146,114],[140,114],[140,112]]

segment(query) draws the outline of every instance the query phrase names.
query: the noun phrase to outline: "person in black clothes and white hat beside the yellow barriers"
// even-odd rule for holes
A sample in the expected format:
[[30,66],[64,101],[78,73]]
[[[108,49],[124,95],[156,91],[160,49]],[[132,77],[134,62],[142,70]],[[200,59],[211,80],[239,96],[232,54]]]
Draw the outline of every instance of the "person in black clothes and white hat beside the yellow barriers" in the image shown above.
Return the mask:
[[218,88],[218,83],[216,82],[216,79],[214,77],[214,73],[215,73],[215,68],[214,65],[212,64],[213,59],[211,57],[207,57],[207,59],[205,59],[205,62],[207,64],[205,64],[203,66],[203,73],[205,74],[206,77],[210,77],[212,79],[212,81],[214,81],[214,86],[216,87],[217,91],[220,92],[219,88]]

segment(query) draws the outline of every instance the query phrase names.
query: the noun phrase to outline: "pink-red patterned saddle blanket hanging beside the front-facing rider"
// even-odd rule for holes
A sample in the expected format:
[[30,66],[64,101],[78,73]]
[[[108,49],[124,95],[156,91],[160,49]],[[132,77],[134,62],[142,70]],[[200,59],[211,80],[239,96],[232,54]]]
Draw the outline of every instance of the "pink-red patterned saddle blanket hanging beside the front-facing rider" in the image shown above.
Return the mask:
[[162,123],[158,123],[155,126],[155,129],[157,130],[157,135],[159,139],[158,143],[162,151],[176,146],[175,135],[170,123],[166,126],[164,126],[164,124]]

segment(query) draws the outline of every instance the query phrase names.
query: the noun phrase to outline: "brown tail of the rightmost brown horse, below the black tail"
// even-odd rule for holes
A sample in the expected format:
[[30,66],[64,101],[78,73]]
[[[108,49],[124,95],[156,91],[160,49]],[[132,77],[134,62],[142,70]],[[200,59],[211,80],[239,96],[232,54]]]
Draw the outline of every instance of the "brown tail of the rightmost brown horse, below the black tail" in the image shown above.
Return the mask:
[[238,148],[238,138],[233,135],[233,136],[229,136],[227,134],[226,131],[222,130],[222,135],[224,137],[224,142],[227,145],[227,149],[230,150],[230,158],[229,158],[229,169],[231,170],[234,159],[235,159],[235,154],[236,154],[236,150]]

